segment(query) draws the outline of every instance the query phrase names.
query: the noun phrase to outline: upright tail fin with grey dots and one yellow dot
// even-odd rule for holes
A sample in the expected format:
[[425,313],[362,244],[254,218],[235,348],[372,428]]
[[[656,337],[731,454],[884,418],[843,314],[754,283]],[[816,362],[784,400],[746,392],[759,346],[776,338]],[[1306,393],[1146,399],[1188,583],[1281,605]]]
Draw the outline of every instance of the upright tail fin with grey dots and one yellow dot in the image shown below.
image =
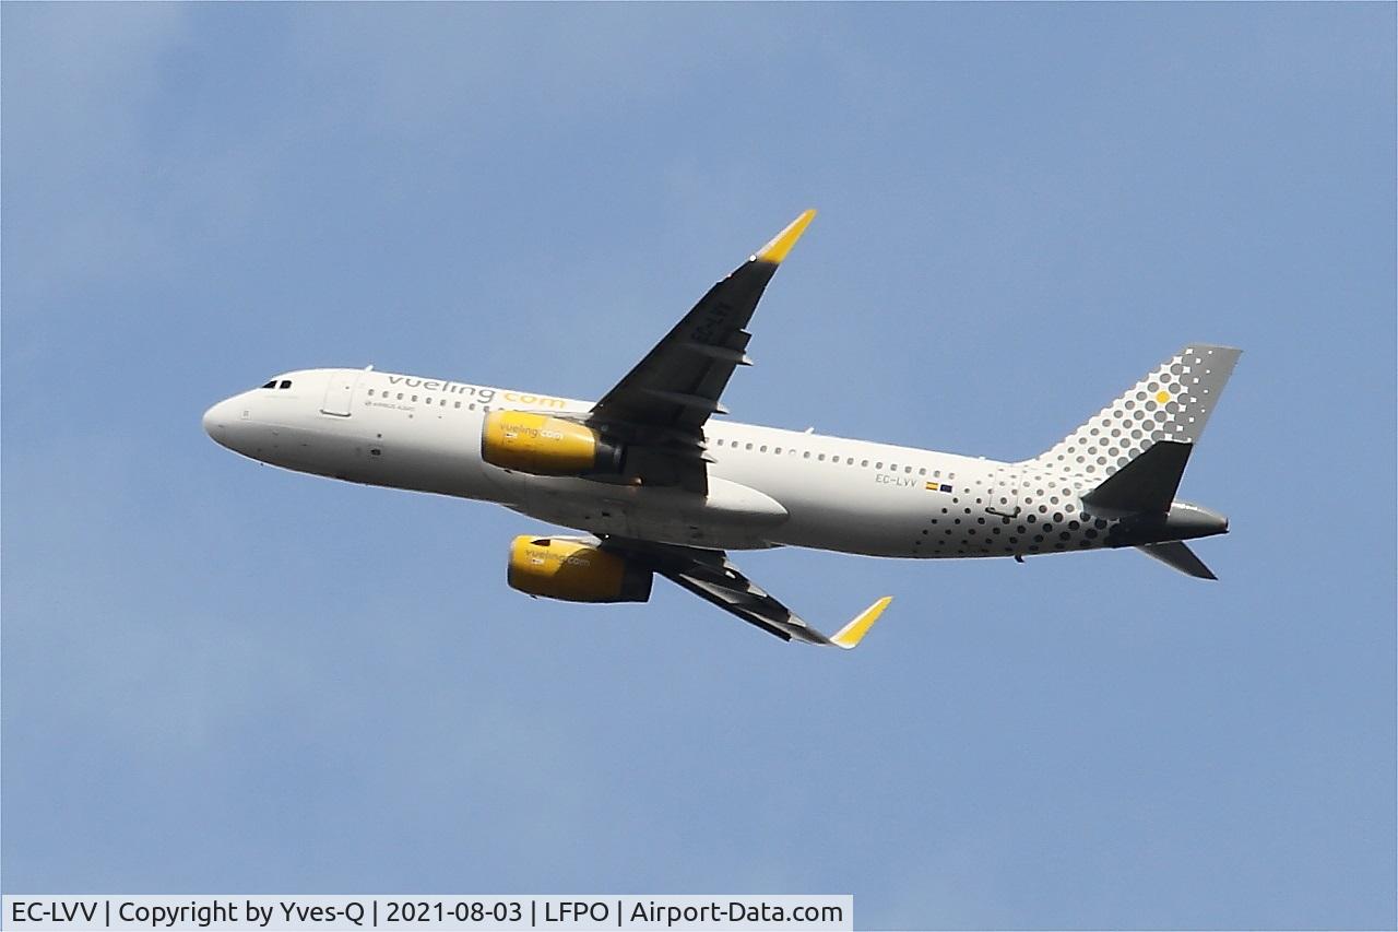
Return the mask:
[[1106,479],[1158,441],[1198,442],[1241,350],[1192,343],[1032,462]]

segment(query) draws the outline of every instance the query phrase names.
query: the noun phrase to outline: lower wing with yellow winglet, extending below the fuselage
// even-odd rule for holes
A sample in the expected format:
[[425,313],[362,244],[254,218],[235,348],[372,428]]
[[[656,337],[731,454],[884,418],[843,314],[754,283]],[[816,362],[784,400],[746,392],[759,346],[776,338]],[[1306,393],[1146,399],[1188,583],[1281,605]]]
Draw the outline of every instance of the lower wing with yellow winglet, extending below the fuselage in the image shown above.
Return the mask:
[[826,637],[742,575],[738,567],[728,560],[728,554],[721,550],[700,550],[621,537],[607,537],[603,546],[651,567],[675,585],[783,641],[795,638],[807,644],[833,645],[847,651],[868,634],[878,617],[884,614],[884,609],[893,600],[892,596],[884,596],[854,616],[854,620],[843,628]]

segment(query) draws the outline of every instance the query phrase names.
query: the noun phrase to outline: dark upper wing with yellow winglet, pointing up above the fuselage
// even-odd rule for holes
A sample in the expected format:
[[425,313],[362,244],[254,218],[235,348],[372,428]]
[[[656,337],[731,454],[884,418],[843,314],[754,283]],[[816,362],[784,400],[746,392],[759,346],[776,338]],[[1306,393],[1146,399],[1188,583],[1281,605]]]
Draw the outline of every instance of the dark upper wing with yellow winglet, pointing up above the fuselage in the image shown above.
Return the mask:
[[719,402],[733,371],[751,365],[747,326],[777,266],[805,232],[814,210],[716,284],[636,367],[603,396],[587,423],[628,445],[626,479],[709,491],[703,425],[727,414]]

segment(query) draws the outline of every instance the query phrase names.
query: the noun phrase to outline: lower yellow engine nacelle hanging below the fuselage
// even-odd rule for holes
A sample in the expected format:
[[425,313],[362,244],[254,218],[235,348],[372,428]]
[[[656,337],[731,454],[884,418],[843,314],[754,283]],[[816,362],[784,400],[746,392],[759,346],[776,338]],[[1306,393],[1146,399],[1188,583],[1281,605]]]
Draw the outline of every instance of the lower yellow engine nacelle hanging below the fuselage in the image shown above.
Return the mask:
[[563,602],[646,602],[654,574],[596,543],[568,537],[516,537],[510,588]]

